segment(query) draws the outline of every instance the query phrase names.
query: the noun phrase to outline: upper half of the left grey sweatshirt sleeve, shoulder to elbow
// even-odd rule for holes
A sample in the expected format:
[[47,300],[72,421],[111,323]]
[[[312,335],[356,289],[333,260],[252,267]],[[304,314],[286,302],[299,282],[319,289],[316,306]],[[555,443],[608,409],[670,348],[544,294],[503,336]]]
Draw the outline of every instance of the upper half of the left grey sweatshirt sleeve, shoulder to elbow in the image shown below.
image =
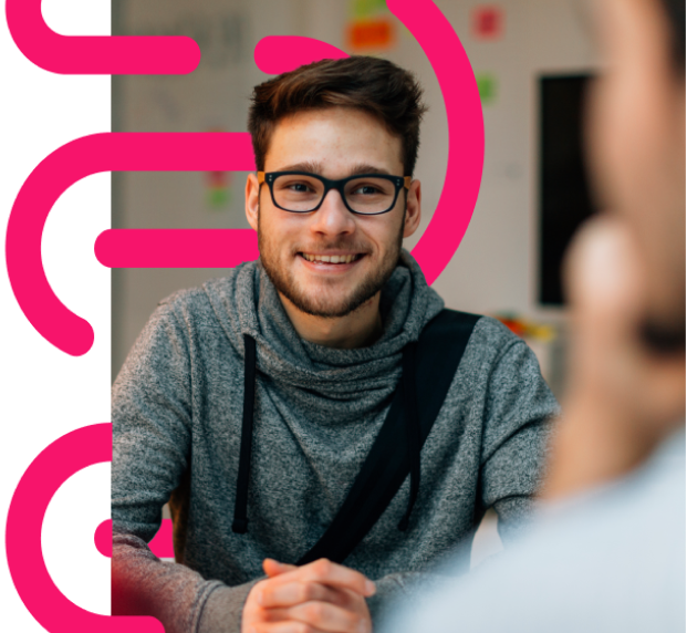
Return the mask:
[[112,387],[113,527],[149,541],[188,467],[191,385],[188,336],[162,304]]

